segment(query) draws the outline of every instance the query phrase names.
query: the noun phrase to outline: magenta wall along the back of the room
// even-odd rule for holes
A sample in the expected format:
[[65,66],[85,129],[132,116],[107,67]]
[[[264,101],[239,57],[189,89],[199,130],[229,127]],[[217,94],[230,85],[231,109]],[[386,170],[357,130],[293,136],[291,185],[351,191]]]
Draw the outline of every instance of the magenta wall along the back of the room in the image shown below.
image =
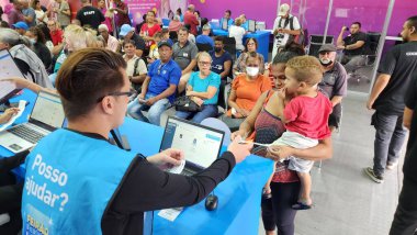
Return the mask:
[[[202,16],[219,19],[226,9],[232,10],[236,18],[245,13],[248,19],[264,21],[267,29],[271,29],[277,16],[277,0],[191,0]],[[282,0],[281,3],[290,1]],[[293,1],[292,13],[300,15],[300,3]],[[323,34],[328,9],[328,0],[307,0],[304,25],[311,34]],[[342,25],[350,25],[352,21],[360,21],[363,31],[381,32],[385,20],[390,0],[334,0],[331,20],[328,34],[337,36]],[[396,0],[394,5],[388,35],[394,36],[401,32],[404,21],[417,15],[416,0]]]

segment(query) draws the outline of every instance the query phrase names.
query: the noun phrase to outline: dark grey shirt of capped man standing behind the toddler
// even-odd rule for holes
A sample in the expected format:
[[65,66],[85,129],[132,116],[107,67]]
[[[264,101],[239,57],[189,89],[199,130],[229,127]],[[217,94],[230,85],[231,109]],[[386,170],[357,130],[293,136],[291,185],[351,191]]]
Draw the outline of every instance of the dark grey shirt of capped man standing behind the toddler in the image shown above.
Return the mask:
[[329,99],[335,96],[346,97],[348,92],[348,75],[345,67],[336,61],[334,67],[323,75],[318,87]]

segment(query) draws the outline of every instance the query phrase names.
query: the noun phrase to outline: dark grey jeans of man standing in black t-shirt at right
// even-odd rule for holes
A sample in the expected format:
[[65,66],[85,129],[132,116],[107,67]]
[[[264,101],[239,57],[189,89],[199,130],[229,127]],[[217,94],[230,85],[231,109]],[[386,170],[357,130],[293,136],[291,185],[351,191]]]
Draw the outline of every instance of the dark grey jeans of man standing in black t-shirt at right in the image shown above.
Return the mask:
[[398,160],[407,131],[403,127],[403,115],[388,115],[376,111],[372,115],[371,124],[376,130],[373,171],[376,176],[383,176],[386,164]]

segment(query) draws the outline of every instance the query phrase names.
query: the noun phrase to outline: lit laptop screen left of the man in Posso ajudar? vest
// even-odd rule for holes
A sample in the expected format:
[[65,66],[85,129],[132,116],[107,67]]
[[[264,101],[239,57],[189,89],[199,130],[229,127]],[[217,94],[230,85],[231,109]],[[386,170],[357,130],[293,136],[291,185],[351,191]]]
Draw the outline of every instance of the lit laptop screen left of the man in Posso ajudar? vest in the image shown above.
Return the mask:
[[33,107],[31,121],[60,128],[64,120],[65,113],[59,96],[41,91]]

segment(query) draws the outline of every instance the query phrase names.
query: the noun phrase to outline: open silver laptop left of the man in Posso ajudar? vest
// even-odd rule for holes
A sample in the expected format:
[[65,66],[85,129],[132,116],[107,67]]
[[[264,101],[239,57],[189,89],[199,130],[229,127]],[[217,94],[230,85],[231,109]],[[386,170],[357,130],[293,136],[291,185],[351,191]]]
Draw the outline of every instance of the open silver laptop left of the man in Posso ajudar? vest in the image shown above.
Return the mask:
[[29,122],[1,132],[0,145],[13,153],[26,150],[50,132],[60,128],[64,121],[65,113],[59,96],[41,91]]

